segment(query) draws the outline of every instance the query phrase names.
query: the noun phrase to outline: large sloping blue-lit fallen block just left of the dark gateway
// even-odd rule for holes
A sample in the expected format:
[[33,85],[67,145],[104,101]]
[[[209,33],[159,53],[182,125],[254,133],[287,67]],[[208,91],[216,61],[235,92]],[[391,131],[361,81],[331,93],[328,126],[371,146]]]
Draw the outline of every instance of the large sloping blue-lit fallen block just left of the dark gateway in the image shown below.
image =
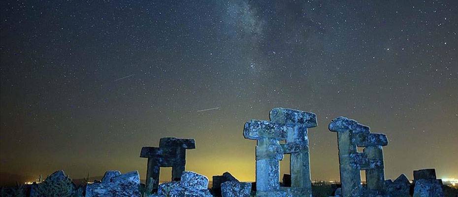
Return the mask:
[[114,176],[110,182],[88,184],[86,197],[140,197],[139,189],[140,176],[132,171]]

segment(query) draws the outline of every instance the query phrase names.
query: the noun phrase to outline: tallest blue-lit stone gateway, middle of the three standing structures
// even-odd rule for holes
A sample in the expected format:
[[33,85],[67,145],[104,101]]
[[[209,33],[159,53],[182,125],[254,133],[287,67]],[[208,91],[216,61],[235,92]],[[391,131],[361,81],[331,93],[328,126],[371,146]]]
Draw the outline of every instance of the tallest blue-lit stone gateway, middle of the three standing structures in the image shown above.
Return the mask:
[[[274,108],[270,121],[251,120],[245,124],[246,139],[257,140],[257,196],[311,197],[310,162],[307,129],[317,126],[314,113]],[[286,140],[286,143],[280,141]],[[291,187],[280,188],[279,161],[291,154]]]

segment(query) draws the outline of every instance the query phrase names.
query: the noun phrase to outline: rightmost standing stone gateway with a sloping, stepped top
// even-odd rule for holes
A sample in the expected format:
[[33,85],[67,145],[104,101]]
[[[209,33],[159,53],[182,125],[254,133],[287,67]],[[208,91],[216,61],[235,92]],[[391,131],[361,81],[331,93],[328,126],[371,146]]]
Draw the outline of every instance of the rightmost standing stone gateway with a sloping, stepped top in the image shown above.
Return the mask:
[[[384,195],[382,146],[388,145],[387,136],[370,133],[369,127],[345,117],[332,120],[329,131],[337,132],[342,196]],[[364,147],[362,153],[358,152],[357,147]],[[361,186],[360,170],[366,170],[366,190]]]

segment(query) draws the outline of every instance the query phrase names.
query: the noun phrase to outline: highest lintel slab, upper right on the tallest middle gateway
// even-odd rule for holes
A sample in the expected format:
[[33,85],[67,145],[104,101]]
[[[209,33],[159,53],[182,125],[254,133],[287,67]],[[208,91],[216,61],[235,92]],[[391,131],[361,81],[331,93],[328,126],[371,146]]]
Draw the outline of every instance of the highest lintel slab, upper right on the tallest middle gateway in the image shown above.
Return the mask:
[[270,121],[283,124],[300,124],[307,128],[317,126],[317,115],[296,109],[274,108],[270,110]]

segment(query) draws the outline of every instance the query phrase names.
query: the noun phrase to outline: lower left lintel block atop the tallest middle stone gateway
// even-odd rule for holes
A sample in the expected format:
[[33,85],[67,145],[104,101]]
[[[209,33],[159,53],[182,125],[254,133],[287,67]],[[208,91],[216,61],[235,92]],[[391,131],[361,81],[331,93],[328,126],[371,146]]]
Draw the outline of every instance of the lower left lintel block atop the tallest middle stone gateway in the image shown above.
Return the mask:
[[287,134],[288,127],[285,124],[265,120],[250,120],[245,123],[243,128],[243,136],[246,139],[274,138],[285,140]]

